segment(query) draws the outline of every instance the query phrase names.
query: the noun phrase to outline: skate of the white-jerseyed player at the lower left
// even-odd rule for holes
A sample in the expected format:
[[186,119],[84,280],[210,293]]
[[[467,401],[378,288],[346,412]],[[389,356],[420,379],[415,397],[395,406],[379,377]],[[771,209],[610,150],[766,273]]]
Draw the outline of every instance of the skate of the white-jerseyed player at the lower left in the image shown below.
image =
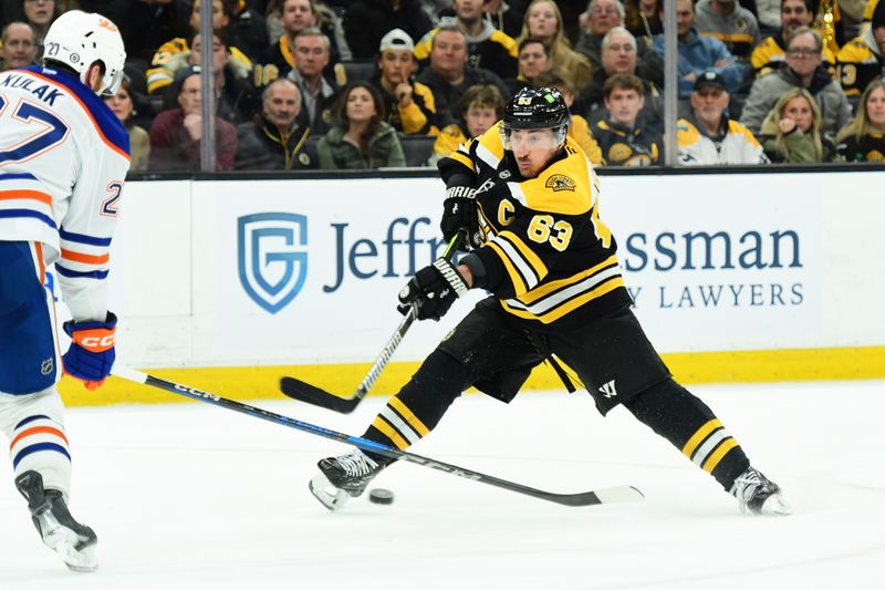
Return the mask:
[[28,499],[31,519],[46,547],[59,553],[74,571],[95,571],[98,559],[95,532],[71,516],[58,489],[43,489],[43,477],[24,472],[15,478],[15,487]]

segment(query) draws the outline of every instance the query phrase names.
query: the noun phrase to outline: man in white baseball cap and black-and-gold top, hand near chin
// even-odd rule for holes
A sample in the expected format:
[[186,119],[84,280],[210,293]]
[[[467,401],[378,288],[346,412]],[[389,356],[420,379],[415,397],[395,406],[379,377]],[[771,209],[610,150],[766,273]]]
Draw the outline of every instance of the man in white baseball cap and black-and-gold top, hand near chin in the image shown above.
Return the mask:
[[377,71],[369,79],[382,92],[387,123],[406,135],[439,133],[429,87],[415,81],[415,42],[403,29],[388,31],[378,45]]

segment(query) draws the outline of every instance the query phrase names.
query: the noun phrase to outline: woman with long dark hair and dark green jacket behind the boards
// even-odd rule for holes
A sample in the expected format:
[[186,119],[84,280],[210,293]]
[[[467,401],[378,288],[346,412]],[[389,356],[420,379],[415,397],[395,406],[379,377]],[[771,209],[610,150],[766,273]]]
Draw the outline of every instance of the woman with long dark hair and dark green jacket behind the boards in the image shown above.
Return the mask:
[[316,152],[324,170],[402,167],[403,146],[385,120],[384,102],[368,82],[354,82],[339,96],[335,126],[320,139]]

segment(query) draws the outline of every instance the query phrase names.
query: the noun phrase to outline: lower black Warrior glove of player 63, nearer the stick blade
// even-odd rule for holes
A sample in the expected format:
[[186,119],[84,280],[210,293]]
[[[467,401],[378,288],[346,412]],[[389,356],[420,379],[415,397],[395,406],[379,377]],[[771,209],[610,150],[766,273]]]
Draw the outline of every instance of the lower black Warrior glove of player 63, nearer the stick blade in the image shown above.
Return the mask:
[[424,267],[399,291],[399,313],[405,315],[415,306],[419,320],[439,321],[456,299],[467,292],[461,273],[445,258]]

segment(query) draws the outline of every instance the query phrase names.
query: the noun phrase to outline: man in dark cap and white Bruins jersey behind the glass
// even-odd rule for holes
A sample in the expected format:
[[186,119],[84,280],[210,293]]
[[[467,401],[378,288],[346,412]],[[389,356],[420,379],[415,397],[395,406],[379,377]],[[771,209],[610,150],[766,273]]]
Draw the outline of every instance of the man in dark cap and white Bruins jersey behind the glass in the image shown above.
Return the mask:
[[691,115],[676,124],[679,162],[687,166],[766,164],[762,145],[746,126],[728,117],[731,102],[722,74],[707,71],[691,89]]

